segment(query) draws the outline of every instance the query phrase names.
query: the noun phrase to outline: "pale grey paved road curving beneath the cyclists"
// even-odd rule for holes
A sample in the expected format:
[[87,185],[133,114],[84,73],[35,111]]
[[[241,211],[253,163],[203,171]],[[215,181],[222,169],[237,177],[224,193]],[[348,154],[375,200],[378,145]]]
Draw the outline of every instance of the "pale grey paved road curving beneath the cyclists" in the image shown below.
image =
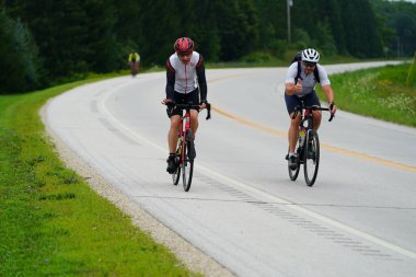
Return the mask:
[[164,73],[71,90],[49,103],[47,122],[109,183],[238,276],[414,276],[416,130],[324,114],[316,183],[308,187],[302,172],[291,182],[285,74],[207,71],[212,120],[201,113],[188,193],[165,172]]

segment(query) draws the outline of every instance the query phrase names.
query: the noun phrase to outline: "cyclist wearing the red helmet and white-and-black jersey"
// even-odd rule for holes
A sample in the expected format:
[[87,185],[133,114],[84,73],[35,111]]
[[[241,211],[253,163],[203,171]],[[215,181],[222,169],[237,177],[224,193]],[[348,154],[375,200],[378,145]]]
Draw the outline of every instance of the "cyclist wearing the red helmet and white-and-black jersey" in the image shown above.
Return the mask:
[[[174,101],[180,104],[192,102],[199,105],[199,111],[207,104],[207,81],[205,78],[205,65],[203,56],[194,50],[194,42],[189,37],[180,37],[174,44],[175,53],[166,60],[166,99],[163,104]],[[190,128],[193,134],[198,129],[197,109],[190,111]],[[181,123],[181,111],[167,107],[167,116],[171,127],[167,132],[169,173],[174,173],[175,150],[177,143],[177,129]]]

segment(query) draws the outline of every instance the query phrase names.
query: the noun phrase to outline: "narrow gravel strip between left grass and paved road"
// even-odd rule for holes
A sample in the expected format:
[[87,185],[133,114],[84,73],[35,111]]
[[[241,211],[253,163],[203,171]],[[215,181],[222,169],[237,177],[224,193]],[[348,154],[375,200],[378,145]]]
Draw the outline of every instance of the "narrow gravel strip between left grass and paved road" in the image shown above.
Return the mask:
[[55,151],[65,164],[83,176],[89,185],[102,197],[112,201],[118,209],[131,218],[134,226],[149,233],[151,238],[165,245],[173,252],[182,263],[193,272],[201,273],[204,276],[235,276],[212,257],[203,253],[199,249],[192,245],[184,238],[153,218],[139,204],[129,196],[117,189],[96,171],[73,152],[50,128],[47,122],[47,106],[49,100],[39,111],[39,116],[45,126],[45,132],[51,142]]

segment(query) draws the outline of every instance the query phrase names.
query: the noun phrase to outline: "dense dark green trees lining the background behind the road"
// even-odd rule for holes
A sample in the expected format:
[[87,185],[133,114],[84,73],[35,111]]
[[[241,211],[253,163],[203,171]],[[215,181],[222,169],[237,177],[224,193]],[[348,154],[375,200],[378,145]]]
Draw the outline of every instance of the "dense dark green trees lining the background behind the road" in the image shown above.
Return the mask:
[[416,46],[416,4],[385,0],[293,0],[290,42],[286,1],[276,0],[1,0],[0,10],[0,93],[115,71],[131,49],[142,68],[163,66],[180,36],[208,62],[286,59],[304,47],[391,57],[397,39],[411,57]]

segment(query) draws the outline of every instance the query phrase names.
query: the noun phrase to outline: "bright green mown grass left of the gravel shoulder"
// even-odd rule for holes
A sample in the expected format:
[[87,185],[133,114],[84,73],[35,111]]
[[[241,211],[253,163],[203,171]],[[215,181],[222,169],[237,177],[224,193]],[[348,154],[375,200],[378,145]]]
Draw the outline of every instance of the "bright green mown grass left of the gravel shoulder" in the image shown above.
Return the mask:
[[39,108],[99,80],[0,96],[0,276],[199,276],[54,152]]

